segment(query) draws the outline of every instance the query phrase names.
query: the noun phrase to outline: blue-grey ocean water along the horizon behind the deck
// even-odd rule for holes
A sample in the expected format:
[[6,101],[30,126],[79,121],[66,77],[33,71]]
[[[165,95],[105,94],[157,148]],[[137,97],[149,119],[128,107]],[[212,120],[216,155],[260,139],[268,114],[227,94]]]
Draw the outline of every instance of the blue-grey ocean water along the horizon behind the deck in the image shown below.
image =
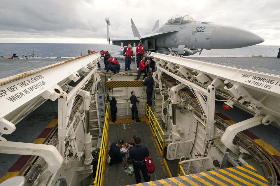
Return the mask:
[[[212,49],[203,50],[201,55],[211,56],[240,56],[240,55],[275,55],[280,46],[255,45],[238,49]],[[120,56],[120,46],[112,44],[59,44],[59,43],[0,43],[0,57],[12,57],[13,53],[21,57],[33,53],[38,57],[77,57],[87,54],[88,49],[94,51],[107,50],[112,56]],[[195,54],[195,56],[198,53]]]

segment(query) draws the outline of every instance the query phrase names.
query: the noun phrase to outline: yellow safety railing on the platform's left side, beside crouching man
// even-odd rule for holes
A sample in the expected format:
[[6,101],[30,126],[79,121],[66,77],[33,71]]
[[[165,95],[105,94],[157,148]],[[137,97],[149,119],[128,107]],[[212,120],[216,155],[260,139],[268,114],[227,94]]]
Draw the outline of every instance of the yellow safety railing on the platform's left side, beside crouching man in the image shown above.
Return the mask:
[[93,182],[94,186],[102,186],[105,172],[105,162],[106,162],[106,151],[107,151],[107,140],[108,140],[108,121],[109,121],[109,105],[107,103],[106,114],[105,114],[105,122],[103,127],[103,134],[101,145],[99,148],[99,158],[96,169],[95,180]]

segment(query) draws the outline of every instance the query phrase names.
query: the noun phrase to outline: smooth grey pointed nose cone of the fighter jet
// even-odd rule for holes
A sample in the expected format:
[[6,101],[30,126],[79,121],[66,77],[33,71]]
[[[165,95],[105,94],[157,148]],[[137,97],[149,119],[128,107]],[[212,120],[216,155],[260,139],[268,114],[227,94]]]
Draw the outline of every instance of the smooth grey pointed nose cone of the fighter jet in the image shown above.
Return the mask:
[[210,36],[213,49],[234,49],[259,44],[265,40],[260,36],[231,26],[218,26]]

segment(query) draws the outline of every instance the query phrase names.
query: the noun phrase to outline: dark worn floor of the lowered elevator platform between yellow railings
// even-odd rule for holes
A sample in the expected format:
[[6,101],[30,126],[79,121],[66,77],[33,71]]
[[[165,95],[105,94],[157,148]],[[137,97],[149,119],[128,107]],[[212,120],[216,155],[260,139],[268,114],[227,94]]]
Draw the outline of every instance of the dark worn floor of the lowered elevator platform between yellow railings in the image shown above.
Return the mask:
[[[118,124],[109,124],[108,133],[108,149],[113,142],[118,140],[124,140],[124,142],[134,142],[133,135],[136,134],[141,139],[141,144],[147,146],[149,150],[149,157],[153,159],[153,164],[155,165],[155,172],[150,174],[151,180],[160,180],[169,178],[169,169],[166,167],[164,160],[161,158],[160,151],[158,149],[157,143],[153,137],[150,126],[146,123],[145,117],[140,118],[141,122],[131,122],[131,118],[128,119],[117,119]],[[135,121],[135,120],[134,120]],[[104,176],[104,186],[122,186],[135,184],[135,176],[127,175],[125,173],[125,167],[127,158],[118,164],[113,164],[112,166],[105,166],[105,176]],[[149,174],[149,173],[148,173]],[[143,180],[143,175],[140,171],[141,181]]]

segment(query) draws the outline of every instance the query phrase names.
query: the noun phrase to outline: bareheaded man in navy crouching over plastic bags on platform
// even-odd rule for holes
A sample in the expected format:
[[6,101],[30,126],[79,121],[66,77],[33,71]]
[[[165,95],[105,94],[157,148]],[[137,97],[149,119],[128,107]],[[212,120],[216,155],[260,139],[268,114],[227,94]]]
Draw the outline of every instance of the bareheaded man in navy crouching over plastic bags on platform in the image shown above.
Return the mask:
[[123,140],[119,140],[118,143],[117,142],[113,142],[111,144],[110,150],[109,150],[109,156],[111,157],[111,162],[109,163],[109,165],[111,166],[112,164],[115,163],[119,163],[122,162],[122,157],[125,156],[125,153],[120,153],[120,147],[123,144]]

